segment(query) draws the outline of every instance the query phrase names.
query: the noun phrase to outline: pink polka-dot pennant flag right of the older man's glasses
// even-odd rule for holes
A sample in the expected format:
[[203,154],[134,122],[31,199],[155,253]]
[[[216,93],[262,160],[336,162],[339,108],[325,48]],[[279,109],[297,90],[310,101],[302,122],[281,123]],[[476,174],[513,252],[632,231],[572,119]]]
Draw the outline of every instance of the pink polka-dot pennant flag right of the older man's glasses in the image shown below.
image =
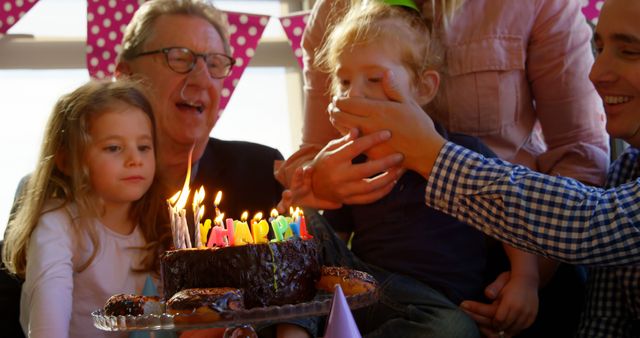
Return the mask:
[[231,52],[236,59],[236,64],[231,74],[224,80],[222,97],[220,98],[220,111],[229,102],[231,94],[238,85],[238,81],[247,68],[249,61],[255,54],[258,42],[262,37],[264,28],[269,23],[268,15],[247,14],[238,12],[225,12],[229,22],[229,44]]

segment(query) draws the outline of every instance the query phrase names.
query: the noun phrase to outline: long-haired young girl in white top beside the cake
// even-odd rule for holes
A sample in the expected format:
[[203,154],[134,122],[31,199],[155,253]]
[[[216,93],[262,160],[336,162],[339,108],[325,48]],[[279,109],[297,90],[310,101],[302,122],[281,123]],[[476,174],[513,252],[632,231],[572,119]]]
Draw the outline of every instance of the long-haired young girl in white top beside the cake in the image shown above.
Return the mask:
[[91,312],[142,294],[170,240],[156,219],[152,109],[134,82],[91,81],[58,100],[43,140],[4,244],[25,279],[20,322],[29,337],[105,336]]

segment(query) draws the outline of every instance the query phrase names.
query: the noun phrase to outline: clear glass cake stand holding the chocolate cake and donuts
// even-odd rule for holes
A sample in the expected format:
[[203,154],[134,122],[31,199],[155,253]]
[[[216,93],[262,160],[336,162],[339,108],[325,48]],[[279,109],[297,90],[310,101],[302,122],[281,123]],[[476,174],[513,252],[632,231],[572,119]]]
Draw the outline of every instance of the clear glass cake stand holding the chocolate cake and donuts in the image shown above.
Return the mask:
[[[257,307],[237,311],[222,312],[221,319],[216,321],[199,320],[199,315],[141,315],[141,316],[108,316],[102,309],[91,313],[93,325],[103,331],[184,331],[205,328],[232,328],[225,337],[232,337],[237,329],[252,330],[252,326],[265,322],[273,322],[297,317],[326,315],[331,311],[333,294],[318,291],[312,301],[282,306]],[[378,300],[377,289],[357,295],[347,296],[351,309],[358,309],[374,304]],[[185,323],[187,322],[187,323]],[[244,335],[242,335],[244,337]]]

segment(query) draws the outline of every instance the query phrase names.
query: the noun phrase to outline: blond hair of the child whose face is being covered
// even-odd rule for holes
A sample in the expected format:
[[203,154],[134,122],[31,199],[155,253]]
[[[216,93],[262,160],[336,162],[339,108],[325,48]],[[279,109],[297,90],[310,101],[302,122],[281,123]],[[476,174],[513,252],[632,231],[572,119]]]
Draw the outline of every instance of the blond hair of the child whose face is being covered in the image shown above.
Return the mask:
[[[394,29],[389,21],[394,19]],[[329,28],[323,45],[317,52],[315,65],[323,72],[333,74],[338,58],[345,50],[370,45],[383,37],[395,37],[394,43],[401,53],[401,61],[412,75],[413,85],[419,83],[425,70],[438,70],[442,66],[441,48],[431,38],[428,22],[416,10],[392,6],[382,0],[352,1],[347,13]],[[339,83],[332,76],[331,90]]]

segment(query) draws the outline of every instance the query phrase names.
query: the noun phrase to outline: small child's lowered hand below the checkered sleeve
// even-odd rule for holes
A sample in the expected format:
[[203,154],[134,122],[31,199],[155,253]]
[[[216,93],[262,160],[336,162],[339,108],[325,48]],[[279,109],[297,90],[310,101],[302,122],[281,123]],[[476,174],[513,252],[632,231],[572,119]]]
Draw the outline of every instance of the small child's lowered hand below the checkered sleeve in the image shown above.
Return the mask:
[[513,272],[498,296],[494,327],[510,336],[531,326],[538,314],[538,283],[535,278]]

